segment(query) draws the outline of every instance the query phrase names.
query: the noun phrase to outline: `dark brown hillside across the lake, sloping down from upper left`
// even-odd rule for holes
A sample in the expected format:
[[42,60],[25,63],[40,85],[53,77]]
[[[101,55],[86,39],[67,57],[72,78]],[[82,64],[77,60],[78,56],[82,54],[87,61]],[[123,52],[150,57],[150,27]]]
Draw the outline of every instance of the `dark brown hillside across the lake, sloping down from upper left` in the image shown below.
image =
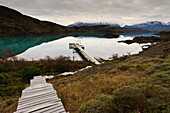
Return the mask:
[[41,21],[21,14],[20,12],[0,6],[0,37],[33,36],[33,35],[100,35],[107,33],[129,34],[148,33],[147,30],[121,28],[118,25],[87,25],[66,27],[56,23]]

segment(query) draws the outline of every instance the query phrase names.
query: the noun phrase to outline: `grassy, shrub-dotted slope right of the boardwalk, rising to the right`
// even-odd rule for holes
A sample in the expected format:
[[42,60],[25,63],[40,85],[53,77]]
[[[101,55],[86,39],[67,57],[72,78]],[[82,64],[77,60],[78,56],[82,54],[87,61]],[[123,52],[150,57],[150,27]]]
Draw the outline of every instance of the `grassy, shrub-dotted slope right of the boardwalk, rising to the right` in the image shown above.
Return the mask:
[[71,113],[168,113],[169,53],[170,42],[161,42],[51,83]]

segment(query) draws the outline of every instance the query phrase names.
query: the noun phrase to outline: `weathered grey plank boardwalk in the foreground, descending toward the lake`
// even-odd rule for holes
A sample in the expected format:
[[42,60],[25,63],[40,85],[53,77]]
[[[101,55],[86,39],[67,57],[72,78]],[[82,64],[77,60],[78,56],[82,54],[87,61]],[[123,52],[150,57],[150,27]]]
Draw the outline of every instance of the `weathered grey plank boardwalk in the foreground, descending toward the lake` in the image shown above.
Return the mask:
[[22,91],[14,113],[66,113],[52,84],[45,77],[35,76],[30,86]]

